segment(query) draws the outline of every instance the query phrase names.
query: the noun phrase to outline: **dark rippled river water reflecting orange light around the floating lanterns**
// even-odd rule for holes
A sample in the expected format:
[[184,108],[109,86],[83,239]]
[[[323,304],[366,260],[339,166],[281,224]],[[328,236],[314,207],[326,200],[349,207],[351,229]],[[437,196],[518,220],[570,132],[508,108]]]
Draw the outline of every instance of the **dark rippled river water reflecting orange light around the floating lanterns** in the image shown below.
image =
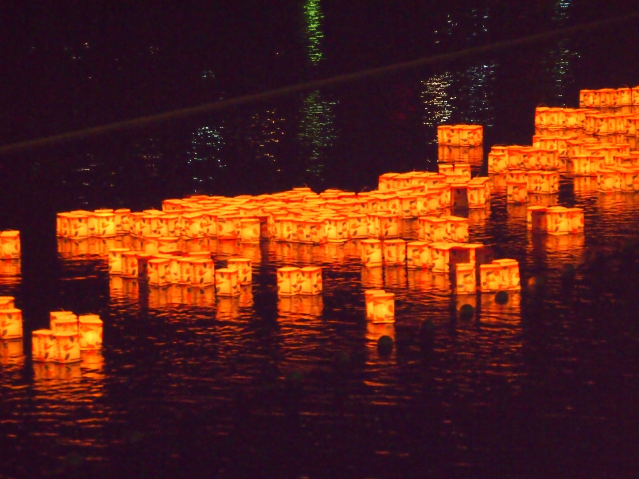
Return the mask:
[[[33,20],[16,8],[26,30],[12,36],[3,142],[626,11],[569,0],[248,4],[45,8]],[[91,20],[103,14],[104,29]],[[458,298],[443,274],[363,268],[352,242],[212,239],[217,267],[253,259],[252,286],[233,299],[158,289],[70,250],[55,214],[196,193],[373,189],[384,172],[435,171],[442,123],[484,125],[484,151],[530,144],[537,105],[638,85],[638,40],[635,20],[0,158],[0,229],[22,236],[20,273],[3,262],[0,296],[15,296],[25,332],[0,344],[0,477],[635,477],[636,194],[562,174],[559,193],[538,200],[583,208],[579,235],[532,235],[526,206],[507,205],[503,188],[466,212],[470,241],[520,262],[525,287],[505,305]],[[474,174],[486,174],[481,153]],[[275,269],[309,264],[323,268],[323,294],[278,298]],[[533,277],[541,285],[527,287]],[[396,294],[396,323],[367,323],[364,290],[376,287]],[[465,303],[473,317],[459,315]],[[31,331],[60,308],[100,314],[104,348],[73,365],[33,363]],[[394,338],[390,354],[378,351],[382,335]]]

